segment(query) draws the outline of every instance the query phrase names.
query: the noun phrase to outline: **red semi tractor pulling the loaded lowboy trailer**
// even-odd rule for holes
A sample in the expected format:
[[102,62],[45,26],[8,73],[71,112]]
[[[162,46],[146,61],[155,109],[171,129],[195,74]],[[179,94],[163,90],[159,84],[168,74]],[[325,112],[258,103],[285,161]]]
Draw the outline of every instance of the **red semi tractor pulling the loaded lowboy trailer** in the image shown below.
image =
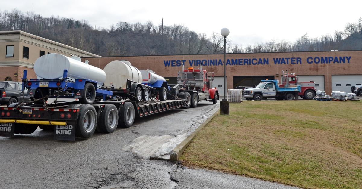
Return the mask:
[[208,100],[216,104],[219,99],[219,91],[212,87],[214,73],[202,69],[188,68],[177,73],[177,85],[174,85],[169,92],[170,98],[182,98],[188,102],[187,107],[197,107],[198,102]]

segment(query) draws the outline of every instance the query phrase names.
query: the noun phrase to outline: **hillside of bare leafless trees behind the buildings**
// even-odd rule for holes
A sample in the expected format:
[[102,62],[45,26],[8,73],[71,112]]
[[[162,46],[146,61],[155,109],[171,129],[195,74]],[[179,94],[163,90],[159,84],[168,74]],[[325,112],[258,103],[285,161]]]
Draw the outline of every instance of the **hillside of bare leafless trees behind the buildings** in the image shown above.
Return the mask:
[[[18,9],[0,10],[0,31],[22,30],[101,56],[175,55],[223,53],[223,37],[219,33],[207,36],[190,31],[184,25],[165,26],[146,23],[118,22],[110,29],[97,29],[87,20],[59,16],[42,17]],[[227,52],[289,52],[362,50],[361,23],[347,23],[343,31],[333,36],[308,38],[295,42],[271,40],[254,45],[232,44],[227,38]]]

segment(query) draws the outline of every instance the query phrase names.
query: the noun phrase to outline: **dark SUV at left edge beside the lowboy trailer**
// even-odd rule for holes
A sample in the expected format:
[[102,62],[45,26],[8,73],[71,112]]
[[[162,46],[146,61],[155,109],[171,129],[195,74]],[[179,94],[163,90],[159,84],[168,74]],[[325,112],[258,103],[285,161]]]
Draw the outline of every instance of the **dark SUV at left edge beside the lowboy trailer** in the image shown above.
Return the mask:
[[9,106],[14,102],[29,102],[28,90],[25,89],[23,95],[21,87],[21,82],[0,81],[0,104],[7,104]]

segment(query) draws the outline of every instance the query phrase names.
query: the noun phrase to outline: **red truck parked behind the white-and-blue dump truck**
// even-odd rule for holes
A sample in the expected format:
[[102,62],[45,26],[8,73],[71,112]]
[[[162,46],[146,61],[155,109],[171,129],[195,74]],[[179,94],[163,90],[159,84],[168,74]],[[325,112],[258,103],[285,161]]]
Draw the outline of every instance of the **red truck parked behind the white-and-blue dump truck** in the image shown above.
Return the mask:
[[311,100],[316,95],[315,82],[302,82],[298,81],[298,76],[295,73],[285,73],[283,71],[282,84],[279,87],[286,86],[286,80],[289,80],[289,85],[300,85],[302,91],[298,94],[303,99]]

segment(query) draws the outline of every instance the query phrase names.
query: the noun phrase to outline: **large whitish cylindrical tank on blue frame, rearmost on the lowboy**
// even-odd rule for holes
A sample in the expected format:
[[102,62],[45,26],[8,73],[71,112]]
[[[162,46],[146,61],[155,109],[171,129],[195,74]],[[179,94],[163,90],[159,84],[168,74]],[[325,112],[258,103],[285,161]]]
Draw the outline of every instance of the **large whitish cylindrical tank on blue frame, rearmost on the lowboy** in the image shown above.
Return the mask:
[[74,78],[89,79],[96,81],[98,87],[101,87],[106,80],[106,73],[102,69],[57,53],[43,55],[34,63],[34,72],[38,79],[63,78],[64,69],[68,70],[68,77],[72,81]]

